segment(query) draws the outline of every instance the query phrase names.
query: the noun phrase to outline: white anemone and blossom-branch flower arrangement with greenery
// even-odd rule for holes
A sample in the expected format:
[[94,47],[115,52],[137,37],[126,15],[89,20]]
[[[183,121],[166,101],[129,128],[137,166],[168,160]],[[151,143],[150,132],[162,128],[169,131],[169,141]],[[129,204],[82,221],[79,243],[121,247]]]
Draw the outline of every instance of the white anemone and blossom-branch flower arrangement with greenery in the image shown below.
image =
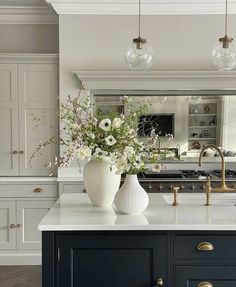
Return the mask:
[[[150,103],[132,103],[131,97],[124,97],[125,114],[110,112],[104,115],[91,104],[90,98],[68,97],[60,106],[62,122],[60,144],[63,155],[49,165],[68,167],[72,160],[96,158],[111,162],[117,173],[137,174],[146,170],[146,162],[154,163],[159,171],[159,138],[152,131],[146,141],[138,140],[138,119],[148,112]],[[41,148],[55,143],[53,139],[40,143],[32,155],[37,157]]]

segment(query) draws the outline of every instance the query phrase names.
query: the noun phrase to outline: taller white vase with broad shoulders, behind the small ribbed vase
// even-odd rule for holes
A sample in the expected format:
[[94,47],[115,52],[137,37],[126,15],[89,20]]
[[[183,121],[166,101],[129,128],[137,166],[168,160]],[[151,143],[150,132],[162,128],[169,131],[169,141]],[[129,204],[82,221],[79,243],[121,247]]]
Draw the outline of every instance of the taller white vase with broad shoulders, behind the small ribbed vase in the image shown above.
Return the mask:
[[109,160],[91,159],[84,167],[84,185],[95,206],[109,206],[113,203],[120,186],[120,175]]

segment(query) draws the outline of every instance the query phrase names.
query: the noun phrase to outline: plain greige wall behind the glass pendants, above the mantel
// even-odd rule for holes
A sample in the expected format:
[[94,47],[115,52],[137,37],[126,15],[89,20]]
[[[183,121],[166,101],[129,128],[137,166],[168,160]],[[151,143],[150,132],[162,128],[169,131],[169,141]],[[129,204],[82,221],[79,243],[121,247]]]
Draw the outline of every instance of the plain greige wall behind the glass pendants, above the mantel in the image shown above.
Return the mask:
[[[59,22],[61,96],[78,88],[73,70],[127,70],[123,55],[137,36],[136,16],[60,15]],[[156,53],[152,70],[214,69],[210,51],[223,30],[223,15],[142,17],[142,35]],[[229,35],[236,38],[236,15]]]

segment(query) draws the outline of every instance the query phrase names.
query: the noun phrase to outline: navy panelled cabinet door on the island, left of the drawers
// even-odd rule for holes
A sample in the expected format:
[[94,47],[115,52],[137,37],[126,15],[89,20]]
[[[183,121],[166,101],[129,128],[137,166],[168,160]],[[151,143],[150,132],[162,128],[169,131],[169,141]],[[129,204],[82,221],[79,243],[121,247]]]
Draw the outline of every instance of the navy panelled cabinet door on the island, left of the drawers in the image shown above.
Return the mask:
[[167,278],[165,235],[68,234],[58,247],[58,287],[150,287]]

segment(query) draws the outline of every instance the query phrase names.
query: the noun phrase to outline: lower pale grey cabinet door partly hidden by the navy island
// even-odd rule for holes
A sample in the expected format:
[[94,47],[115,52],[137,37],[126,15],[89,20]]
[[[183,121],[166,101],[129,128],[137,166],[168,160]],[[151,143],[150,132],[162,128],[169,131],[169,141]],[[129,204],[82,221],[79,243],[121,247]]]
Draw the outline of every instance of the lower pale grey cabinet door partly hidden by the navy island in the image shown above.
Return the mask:
[[17,248],[41,249],[38,224],[55,201],[17,201]]

